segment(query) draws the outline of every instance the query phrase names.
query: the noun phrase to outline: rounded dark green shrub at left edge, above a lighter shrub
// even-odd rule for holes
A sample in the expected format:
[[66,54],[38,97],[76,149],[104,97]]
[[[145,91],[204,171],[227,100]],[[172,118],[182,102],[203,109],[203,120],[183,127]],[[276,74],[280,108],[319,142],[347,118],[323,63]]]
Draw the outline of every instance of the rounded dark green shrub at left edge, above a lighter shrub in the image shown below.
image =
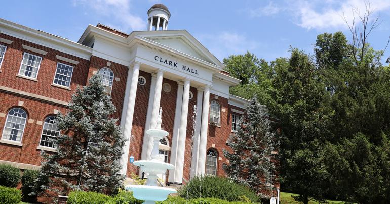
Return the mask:
[[20,171],[10,165],[0,165],[0,186],[16,187],[20,180]]

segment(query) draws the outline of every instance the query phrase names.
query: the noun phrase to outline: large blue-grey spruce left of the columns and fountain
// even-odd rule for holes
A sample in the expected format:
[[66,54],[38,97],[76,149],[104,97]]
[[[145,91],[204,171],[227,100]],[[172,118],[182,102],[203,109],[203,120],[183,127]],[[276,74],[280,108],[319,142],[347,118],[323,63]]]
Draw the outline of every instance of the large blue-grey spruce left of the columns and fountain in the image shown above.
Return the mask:
[[104,90],[101,76],[95,74],[72,95],[70,112],[56,117],[61,134],[52,141],[56,152],[42,154],[38,192],[66,194],[80,189],[112,193],[122,186],[124,176],[118,174],[117,160],[125,140],[118,120],[109,117],[116,109]]

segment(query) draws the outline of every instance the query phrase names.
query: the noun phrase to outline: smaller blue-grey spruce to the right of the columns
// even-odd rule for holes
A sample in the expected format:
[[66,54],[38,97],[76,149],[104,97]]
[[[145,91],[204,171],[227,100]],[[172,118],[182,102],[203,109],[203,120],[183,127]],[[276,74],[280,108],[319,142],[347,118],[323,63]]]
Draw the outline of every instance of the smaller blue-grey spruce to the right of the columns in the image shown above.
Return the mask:
[[223,164],[227,175],[259,193],[271,190],[268,183],[272,183],[275,171],[272,151],[278,145],[262,110],[254,96],[242,116],[241,126],[236,127],[227,141],[232,151],[223,150],[229,160],[229,164]]

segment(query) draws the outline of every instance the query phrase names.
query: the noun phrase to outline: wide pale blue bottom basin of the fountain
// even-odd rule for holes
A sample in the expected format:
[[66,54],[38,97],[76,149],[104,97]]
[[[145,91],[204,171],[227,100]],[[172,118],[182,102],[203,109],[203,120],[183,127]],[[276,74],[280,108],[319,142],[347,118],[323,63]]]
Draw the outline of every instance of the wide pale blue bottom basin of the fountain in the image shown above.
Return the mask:
[[144,203],[150,203],[150,201],[164,201],[167,199],[169,193],[177,192],[172,188],[145,185],[127,185],[125,189],[133,191],[133,196],[139,200],[145,200]]

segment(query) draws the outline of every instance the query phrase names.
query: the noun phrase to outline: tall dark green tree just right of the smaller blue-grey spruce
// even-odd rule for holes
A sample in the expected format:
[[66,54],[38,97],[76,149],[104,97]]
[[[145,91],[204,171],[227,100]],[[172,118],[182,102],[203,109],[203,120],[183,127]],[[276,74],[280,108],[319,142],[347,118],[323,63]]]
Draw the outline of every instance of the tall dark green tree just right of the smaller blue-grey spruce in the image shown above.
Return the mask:
[[[297,194],[297,200],[324,201],[327,172],[323,144],[328,141],[332,112],[323,106],[329,100],[315,64],[301,50],[292,49],[290,59],[272,62],[271,100],[267,108],[281,128],[281,186]],[[324,108],[325,107],[325,108]]]

